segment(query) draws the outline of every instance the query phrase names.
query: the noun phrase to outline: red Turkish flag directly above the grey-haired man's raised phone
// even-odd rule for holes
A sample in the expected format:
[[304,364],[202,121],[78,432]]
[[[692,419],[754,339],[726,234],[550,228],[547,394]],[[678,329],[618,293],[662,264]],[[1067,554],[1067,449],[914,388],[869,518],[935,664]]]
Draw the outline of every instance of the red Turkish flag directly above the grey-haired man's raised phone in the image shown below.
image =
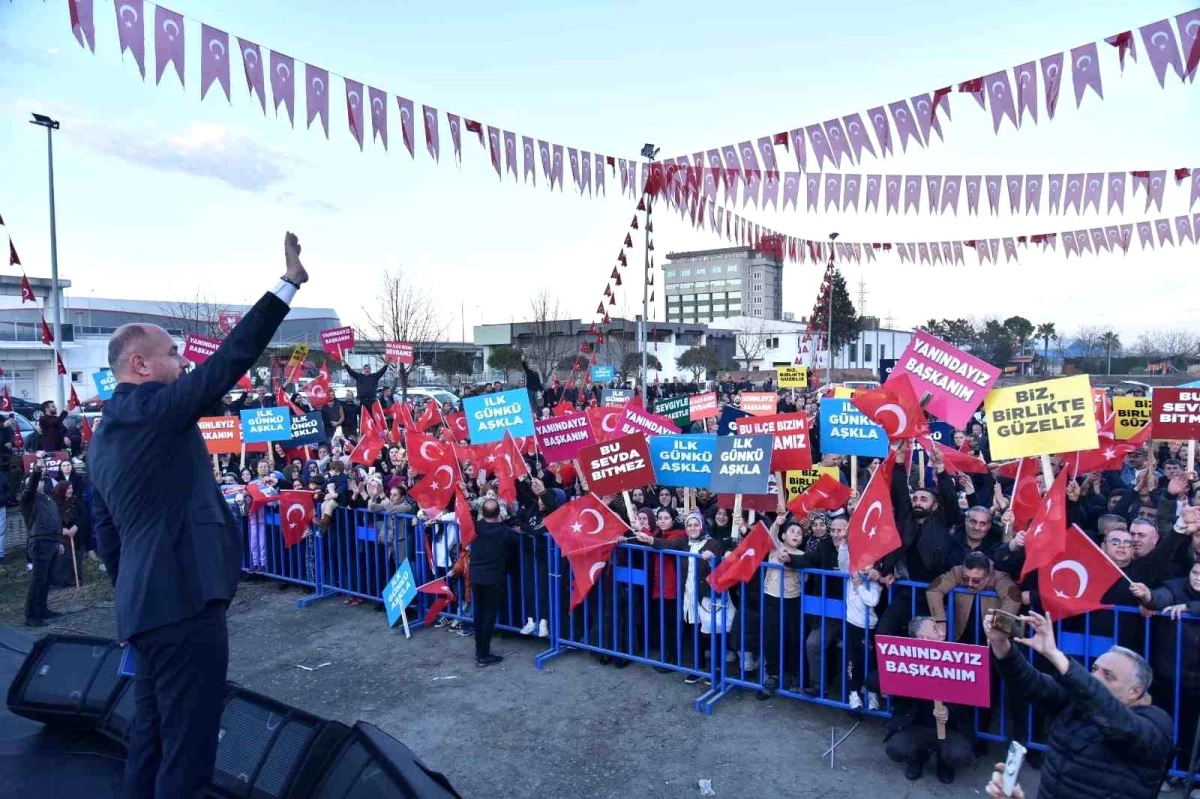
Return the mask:
[[1042,607],[1061,621],[1110,606],[1102,600],[1118,579],[1128,579],[1087,534],[1072,524],[1063,551],[1038,569]]

